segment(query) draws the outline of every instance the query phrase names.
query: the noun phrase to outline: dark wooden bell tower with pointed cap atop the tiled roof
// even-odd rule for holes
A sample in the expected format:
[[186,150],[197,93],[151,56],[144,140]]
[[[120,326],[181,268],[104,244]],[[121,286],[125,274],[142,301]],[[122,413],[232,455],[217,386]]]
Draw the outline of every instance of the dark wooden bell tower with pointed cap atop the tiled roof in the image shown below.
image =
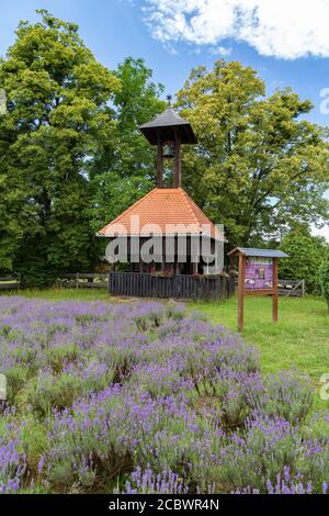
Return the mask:
[[171,96],[167,97],[168,106],[151,122],[140,125],[139,130],[151,145],[158,147],[158,188],[163,184],[163,159],[171,159],[173,184],[181,187],[181,145],[196,144],[197,139],[191,124],[182,119],[171,106]]

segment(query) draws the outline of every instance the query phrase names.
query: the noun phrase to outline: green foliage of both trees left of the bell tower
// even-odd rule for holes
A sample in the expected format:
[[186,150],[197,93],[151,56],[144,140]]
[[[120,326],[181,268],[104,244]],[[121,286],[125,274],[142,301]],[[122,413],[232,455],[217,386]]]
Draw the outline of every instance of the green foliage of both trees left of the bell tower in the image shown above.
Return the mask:
[[77,25],[38,14],[0,63],[0,270],[34,287],[91,270],[95,232],[152,188],[155,154],[138,125],[163,108],[143,59],[111,72]]

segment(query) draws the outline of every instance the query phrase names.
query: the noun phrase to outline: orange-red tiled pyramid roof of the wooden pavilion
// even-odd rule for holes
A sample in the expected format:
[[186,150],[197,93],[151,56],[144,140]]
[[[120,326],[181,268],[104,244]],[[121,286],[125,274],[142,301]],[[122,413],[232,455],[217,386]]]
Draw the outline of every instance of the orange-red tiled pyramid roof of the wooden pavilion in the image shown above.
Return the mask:
[[215,225],[182,188],[155,188],[103,227],[99,235],[110,237],[200,233],[223,238]]

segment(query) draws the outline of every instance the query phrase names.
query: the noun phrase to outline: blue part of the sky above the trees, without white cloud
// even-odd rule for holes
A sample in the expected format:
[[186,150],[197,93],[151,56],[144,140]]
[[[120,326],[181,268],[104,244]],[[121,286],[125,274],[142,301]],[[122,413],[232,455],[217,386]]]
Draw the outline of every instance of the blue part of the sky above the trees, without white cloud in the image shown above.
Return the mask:
[[[224,3],[225,1],[227,0],[223,0]],[[285,3],[291,1],[288,0]],[[191,3],[193,2],[197,4],[198,0],[191,0]],[[204,0],[202,3],[207,2],[212,3],[212,0]],[[314,2],[315,0],[306,1],[309,5]],[[177,0],[173,3],[189,5],[189,0]],[[220,7],[220,0],[216,0],[217,5]],[[161,20],[161,12],[150,13],[144,10],[152,4],[170,8],[172,0],[0,0],[0,55],[3,56],[13,43],[19,20],[35,20],[35,10],[45,8],[58,18],[77,22],[86,44],[94,52],[97,58],[110,68],[115,67],[128,55],[144,57],[154,69],[155,79],[166,86],[167,92],[178,91],[193,67],[200,64],[211,67],[216,58],[225,56],[227,59],[238,59],[254,67],[265,80],[269,92],[275,88],[292,86],[303,98],[310,98],[315,109],[309,120],[329,125],[329,113],[321,114],[319,109],[320,90],[329,88],[329,35],[328,57],[321,57],[321,48],[318,55],[311,57],[275,57],[275,53],[279,56],[282,54],[277,48],[272,51],[274,55],[266,56],[260,54],[262,48],[243,41],[238,42],[237,35],[220,38],[219,34],[219,37],[212,40],[205,35],[206,29],[202,27],[204,41],[201,41],[197,34],[185,35],[183,31],[179,33],[172,23],[170,25],[170,15]],[[309,14],[313,15],[311,13],[313,10]],[[220,9],[215,14],[224,18]],[[150,18],[155,15],[158,15],[158,19],[151,21]],[[163,26],[169,34],[164,33]],[[173,34],[170,34],[170,26]],[[178,37],[179,41],[174,41]]]

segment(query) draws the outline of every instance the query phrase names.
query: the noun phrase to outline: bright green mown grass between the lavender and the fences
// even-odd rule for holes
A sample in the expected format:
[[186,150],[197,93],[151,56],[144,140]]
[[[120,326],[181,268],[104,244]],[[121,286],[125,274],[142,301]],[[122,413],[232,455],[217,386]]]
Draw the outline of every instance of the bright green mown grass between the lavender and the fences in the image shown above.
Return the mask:
[[[16,292],[15,292],[16,293]],[[54,289],[21,292],[27,298],[48,300],[111,301],[105,289]],[[113,301],[113,300],[112,300]],[[237,299],[224,302],[189,302],[214,324],[236,330]],[[242,337],[260,350],[261,367],[265,373],[296,369],[311,377],[316,386],[324,373],[329,373],[329,314],[326,303],[316,298],[281,298],[279,322],[272,324],[271,299],[245,300],[245,329]],[[329,402],[317,396],[319,407],[329,408]]]

